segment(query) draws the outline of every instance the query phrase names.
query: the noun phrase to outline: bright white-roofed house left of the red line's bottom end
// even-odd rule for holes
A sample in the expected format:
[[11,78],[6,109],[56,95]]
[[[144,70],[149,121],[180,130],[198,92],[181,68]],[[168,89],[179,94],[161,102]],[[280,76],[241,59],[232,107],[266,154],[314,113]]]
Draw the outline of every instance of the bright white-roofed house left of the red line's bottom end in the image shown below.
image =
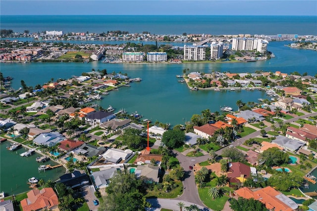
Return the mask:
[[129,159],[134,155],[132,150],[118,150],[115,148],[108,149],[106,153],[102,156],[105,158],[106,161],[112,163],[119,163],[121,160]]

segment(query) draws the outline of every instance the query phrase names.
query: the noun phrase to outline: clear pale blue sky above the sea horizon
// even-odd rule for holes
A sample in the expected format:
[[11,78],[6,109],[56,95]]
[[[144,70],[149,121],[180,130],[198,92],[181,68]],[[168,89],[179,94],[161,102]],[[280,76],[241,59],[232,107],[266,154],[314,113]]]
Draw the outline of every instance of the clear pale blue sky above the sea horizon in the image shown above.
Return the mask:
[[317,0],[0,0],[0,14],[317,16]]

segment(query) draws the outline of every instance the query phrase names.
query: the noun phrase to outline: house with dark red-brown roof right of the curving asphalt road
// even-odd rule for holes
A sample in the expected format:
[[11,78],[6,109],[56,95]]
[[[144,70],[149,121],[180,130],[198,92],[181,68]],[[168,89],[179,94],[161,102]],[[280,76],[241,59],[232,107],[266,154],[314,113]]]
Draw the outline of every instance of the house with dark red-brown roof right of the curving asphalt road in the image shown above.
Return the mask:
[[243,183],[249,178],[250,174],[251,168],[249,165],[243,164],[242,162],[231,162],[227,176],[230,182]]

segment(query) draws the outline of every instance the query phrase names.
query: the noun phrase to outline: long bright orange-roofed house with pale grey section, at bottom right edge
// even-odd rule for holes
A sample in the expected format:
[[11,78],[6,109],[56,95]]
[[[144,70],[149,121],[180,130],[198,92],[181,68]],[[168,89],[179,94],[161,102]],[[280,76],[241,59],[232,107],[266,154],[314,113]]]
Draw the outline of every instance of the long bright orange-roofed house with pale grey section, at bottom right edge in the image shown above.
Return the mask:
[[298,208],[298,205],[293,200],[270,186],[254,192],[247,187],[240,188],[234,192],[239,197],[245,199],[253,198],[264,203],[265,207],[271,211],[295,211]]

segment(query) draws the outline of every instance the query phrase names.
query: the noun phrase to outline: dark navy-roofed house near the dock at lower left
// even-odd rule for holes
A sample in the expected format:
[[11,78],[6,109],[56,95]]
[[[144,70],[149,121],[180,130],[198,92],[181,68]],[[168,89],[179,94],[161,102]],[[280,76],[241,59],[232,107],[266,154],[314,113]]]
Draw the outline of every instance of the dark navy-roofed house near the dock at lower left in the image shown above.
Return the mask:
[[73,171],[59,177],[58,183],[63,183],[66,187],[79,188],[90,184],[89,176],[83,171]]

